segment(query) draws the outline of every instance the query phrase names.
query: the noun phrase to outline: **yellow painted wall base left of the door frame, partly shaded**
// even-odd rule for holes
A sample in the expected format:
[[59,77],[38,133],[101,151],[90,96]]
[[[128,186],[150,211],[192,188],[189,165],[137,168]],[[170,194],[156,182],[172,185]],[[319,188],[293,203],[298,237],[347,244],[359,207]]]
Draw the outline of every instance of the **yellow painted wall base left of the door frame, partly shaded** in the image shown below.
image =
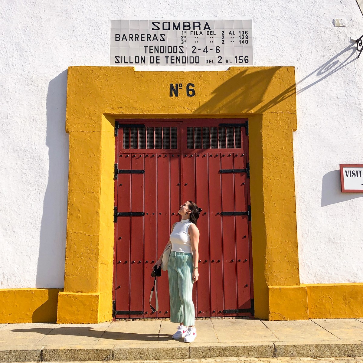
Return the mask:
[[0,290],[0,323],[55,323],[62,289]]

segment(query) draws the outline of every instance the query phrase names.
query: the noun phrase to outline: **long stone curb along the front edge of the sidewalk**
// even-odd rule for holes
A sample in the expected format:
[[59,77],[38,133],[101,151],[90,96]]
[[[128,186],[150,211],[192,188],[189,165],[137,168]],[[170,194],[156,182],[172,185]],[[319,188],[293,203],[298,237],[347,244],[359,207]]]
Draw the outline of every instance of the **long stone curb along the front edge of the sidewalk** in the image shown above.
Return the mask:
[[[69,345],[69,346],[15,346],[0,347],[0,362],[77,362],[77,361],[135,361],[181,360],[241,357],[257,361],[258,358],[297,358],[314,360],[339,357],[363,357],[363,342],[341,340],[321,343],[205,343],[203,345],[150,344],[132,345]],[[301,358],[300,358],[301,357]],[[318,358],[319,357],[319,358]],[[342,359],[342,358],[340,358]]]

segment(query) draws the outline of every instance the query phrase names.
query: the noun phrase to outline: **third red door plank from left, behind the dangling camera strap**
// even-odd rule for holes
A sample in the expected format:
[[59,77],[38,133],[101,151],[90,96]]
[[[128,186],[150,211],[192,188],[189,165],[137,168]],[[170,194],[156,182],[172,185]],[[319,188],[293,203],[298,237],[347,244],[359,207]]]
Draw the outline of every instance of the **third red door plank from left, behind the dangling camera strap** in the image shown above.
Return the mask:
[[[151,268],[158,259],[156,252],[156,155],[152,152],[145,154],[144,168],[144,317],[155,318],[156,315],[152,313],[149,304],[149,294],[154,285]],[[154,302],[153,306],[155,306]]]

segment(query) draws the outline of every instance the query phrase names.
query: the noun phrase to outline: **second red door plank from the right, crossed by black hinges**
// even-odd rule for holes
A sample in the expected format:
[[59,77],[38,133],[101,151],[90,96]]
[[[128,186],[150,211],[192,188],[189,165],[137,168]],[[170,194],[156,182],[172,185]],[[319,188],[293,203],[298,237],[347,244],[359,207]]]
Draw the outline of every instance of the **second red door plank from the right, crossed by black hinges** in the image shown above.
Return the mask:
[[[233,169],[232,154],[221,155],[221,168]],[[234,177],[233,174],[222,174],[222,210],[234,211]],[[237,272],[236,272],[236,239],[234,216],[222,216],[223,233],[223,270],[224,270],[224,308],[226,310],[237,308]],[[233,314],[225,314],[234,316]]]

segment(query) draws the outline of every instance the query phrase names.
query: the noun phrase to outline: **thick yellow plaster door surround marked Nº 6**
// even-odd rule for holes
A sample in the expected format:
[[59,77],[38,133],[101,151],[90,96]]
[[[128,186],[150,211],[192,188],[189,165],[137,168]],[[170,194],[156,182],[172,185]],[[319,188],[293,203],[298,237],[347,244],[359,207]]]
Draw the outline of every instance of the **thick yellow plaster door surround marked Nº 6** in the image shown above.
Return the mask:
[[[171,83],[184,85],[178,97],[170,96]],[[186,92],[188,83],[194,85],[192,97]],[[268,318],[268,286],[299,285],[294,90],[292,67],[219,72],[70,67],[65,285],[58,295],[57,321],[111,319],[114,120],[129,117],[249,119],[255,315]]]

